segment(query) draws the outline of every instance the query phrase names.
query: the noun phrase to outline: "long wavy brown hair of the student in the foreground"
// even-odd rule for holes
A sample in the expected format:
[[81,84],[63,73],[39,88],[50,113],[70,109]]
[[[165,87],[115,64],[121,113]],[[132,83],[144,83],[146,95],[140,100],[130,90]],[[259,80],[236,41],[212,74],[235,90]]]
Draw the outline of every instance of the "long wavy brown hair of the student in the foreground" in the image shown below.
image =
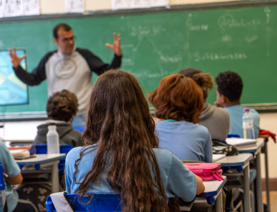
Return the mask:
[[[98,149],[83,182],[74,179],[74,183],[80,183],[76,193],[86,193],[88,184],[97,181],[108,166],[105,178],[114,192],[121,193],[124,212],[150,211],[151,207],[153,211],[168,211],[152,150],[158,147],[155,122],[139,82],[132,74],[116,69],[98,77],[89,99],[82,140],[86,145],[96,145],[85,146],[80,157],[85,150]],[[156,176],[154,181],[149,163]],[[154,185],[158,185],[158,191]]]

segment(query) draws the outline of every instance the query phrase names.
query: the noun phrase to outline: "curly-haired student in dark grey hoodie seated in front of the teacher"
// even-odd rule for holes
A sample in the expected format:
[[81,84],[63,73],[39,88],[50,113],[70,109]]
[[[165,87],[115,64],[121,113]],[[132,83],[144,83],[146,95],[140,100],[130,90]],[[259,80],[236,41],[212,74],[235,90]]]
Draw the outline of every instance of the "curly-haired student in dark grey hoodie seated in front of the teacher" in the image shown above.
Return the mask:
[[73,147],[82,146],[82,133],[74,130],[70,125],[77,109],[77,97],[68,90],[62,90],[50,96],[46,105],[49,120],[37,127],[38,132],[34,144],[46,144],[48,126],[54,123],[57,126],[60,144],[71,144]]

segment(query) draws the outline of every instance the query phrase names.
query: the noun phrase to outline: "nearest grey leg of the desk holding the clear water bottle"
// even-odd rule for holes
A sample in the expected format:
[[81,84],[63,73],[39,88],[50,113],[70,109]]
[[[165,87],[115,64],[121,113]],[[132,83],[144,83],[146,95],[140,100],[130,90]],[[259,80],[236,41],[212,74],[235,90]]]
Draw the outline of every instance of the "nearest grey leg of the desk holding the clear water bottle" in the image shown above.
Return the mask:
[[257,192],[257,206],[258,212],[263,212],[263,196],[262,196],[262,177],[261,177],[261,163],[260,163],[260,153],[256,155],[256,168],[257,168],[257,176],[256,176],[256,192]]

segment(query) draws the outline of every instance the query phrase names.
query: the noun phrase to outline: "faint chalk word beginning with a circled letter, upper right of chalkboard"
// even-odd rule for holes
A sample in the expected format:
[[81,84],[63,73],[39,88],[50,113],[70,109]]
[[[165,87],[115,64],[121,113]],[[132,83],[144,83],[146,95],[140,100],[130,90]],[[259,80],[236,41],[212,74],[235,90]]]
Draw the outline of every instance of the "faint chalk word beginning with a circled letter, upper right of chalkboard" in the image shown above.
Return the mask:
[[230,29],[233,27],[259,26],[262,22],[259,19],[234,18],[232,14],[226,13],[218,18],[217,23],[221,29]]

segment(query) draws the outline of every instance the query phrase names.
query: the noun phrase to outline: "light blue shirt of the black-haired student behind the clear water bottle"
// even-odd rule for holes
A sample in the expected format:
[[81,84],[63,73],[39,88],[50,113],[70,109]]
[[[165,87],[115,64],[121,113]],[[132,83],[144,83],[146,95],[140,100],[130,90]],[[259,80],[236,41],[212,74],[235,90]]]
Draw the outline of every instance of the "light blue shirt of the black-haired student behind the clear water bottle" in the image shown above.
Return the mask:
[[[242,107],[241,105],[224,107],[224,109],[228,111],[230,116],[229,134],[236,134],[236,135],[239,135],[241,138],[243,138],[242,117],[243,117],[245,108],[246,107]],[[260,133],[260,125],[259,125],[260,115],[254,109],[250,109],[249,111],[253,116],[254,133],[255,133],[255,138],[257,138]]]

